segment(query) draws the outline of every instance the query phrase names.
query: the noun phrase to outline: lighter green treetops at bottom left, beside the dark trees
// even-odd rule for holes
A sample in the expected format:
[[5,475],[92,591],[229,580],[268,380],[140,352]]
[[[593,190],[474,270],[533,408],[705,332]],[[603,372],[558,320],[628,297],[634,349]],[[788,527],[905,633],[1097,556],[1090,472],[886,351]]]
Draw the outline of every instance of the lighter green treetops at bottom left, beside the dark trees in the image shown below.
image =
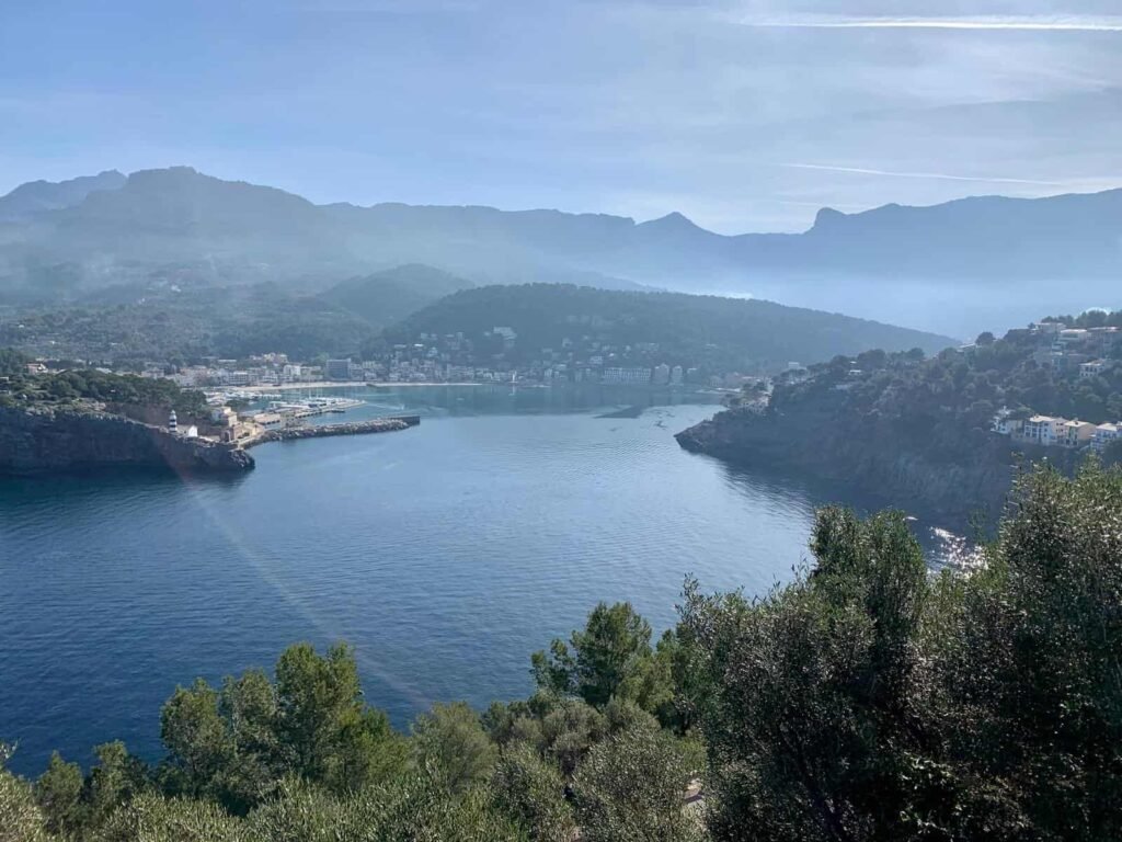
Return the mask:
[[[598,612],[650,635],[631,606]],[[574,638],[601,637],[603,623],[589,625]],[[655,658],[646,638],[632,641],[634,662],[614,668],[629,686]],[[654,694],[670,695],[669,685]],[[604,830],[589,839],[638,842],[698,832],[681,808],[697,747],[623,693],[591,705],[543,687],[484,716],[436,704],[405,735],[364,701],[350,649],[297,644],[272,677],[250,670],[220,687],[177,688],[160,739],[155,766],[116,742],[98,747],[85,772],[56,753],[34,785],[0,768],[0,818],[44,840],[91,842],[570,842],[592,825]]]

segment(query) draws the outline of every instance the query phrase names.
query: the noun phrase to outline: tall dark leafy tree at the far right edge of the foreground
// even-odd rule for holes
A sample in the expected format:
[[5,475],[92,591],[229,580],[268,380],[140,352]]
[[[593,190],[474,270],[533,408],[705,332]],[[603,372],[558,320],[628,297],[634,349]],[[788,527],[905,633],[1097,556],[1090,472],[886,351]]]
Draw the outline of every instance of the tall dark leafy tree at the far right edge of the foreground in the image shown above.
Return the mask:
[[1122,472],[1027,476],[986,560],[932,648],[953,760],[1040,836],[1122,839]]

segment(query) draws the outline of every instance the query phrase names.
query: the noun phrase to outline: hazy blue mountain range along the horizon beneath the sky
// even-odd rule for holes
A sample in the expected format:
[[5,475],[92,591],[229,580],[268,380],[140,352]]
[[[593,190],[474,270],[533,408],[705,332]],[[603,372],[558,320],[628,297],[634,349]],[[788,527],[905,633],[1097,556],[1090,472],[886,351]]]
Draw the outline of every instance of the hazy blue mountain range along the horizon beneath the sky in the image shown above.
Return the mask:
[[862,213],[800,235],[723,236],[626,217],[397,203],[316,205],[172,167],[0,198],[0,296],[80,300],[121,284],[270,281],[320,292],[399,264],[475,284],[569,282],[754,295],[956,336],[1116,305],[1122,190],[983,196]]

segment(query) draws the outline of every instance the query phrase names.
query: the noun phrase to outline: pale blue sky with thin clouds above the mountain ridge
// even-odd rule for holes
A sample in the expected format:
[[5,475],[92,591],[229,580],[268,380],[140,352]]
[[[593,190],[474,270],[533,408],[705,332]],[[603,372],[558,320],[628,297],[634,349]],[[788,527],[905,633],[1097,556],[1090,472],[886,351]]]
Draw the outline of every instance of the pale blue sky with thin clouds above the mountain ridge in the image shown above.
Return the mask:
[[0,3],[0,193],[186,164],[736,234],[1120,158],[1122,0]]

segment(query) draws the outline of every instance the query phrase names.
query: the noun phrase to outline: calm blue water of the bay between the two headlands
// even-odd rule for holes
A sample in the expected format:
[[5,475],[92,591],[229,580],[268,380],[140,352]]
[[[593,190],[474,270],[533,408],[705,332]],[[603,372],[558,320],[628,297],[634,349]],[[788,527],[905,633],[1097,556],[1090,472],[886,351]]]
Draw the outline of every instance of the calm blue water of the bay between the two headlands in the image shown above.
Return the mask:
[[[0,481],[0,741],[19,742],[17,770],[111,739],[156,757],[176,684],[270,667],[301,640],[352,643],[368,699],[402,726],[433,701],[524,696],[530,653],[597,601],[661,630],[686,574],[763,592],[806,557],[815,506],[879,503],[682,451],[672,433],[711,396],[353,394],[368,403],[347,418],[424,420],[267,445],[238,477]],[[628,404],[647,409],[599,417]]]

